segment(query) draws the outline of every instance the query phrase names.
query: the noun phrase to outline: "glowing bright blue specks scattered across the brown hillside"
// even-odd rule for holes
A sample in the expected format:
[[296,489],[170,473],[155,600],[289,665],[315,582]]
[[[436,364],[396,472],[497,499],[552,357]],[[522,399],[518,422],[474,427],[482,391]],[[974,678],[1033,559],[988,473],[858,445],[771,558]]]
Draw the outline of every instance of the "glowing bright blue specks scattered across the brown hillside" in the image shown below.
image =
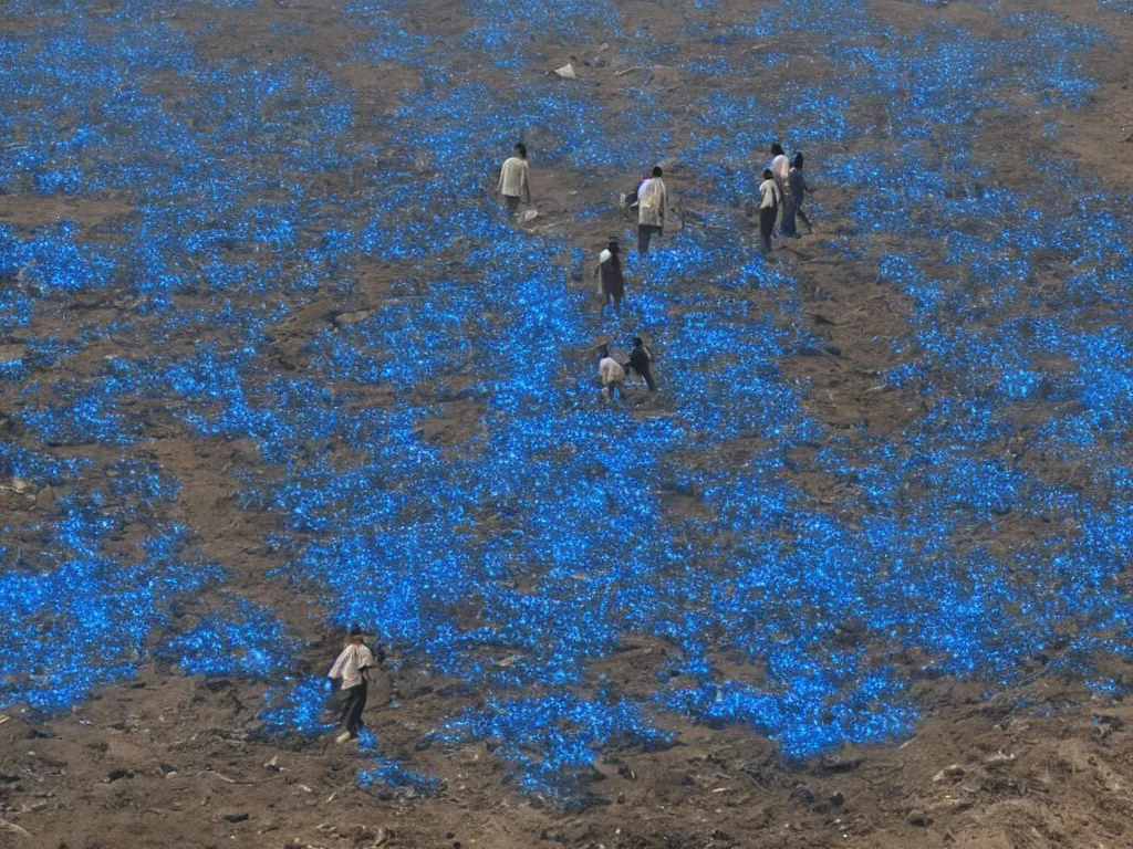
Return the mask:
[[[232,473],[238,507],[276,522],[264,542],[287,563],[269,580],[479,688],[482,707],[427,739],[487,741],[520,790],[564,805],[588,798],[603,747],[672,743],[666,713],[747,726],[791,757],[908,735],[912,655],[994,687],[1063,651],[1060,672],[1119,693],[1092,660],[1133,655],[1114,580],[1133,543],[1130,199],[1039,158],[1036,190],[1013,190],[976,153],[1003,115],[1057,135],[1096,87],[1089,51],[1113,49],[1101,28],[981,3],[1003,37],[898,33],[864,0],[795,0],[722,32],[692,20],[682,46],[644,25],[627,37],[608,2],[468,0],[449,42],[408,0],[353,0],[329,24],[351,28],[347,59],[411,71],[375,114],[304,58],[208,59],[208,31],[156,6],[3,6],[22,26],[0,38],[0,188],[123,212],[0,225],[0,478],[28,504],[53,495],[0,529],[0,705],[62,710],[156,657],[270,681],[267,734],[332,728],[326,679],[296,677],[293,611],[225,590],[223,564],[168,528],[182,483],[152,446],[169,436],[254,446],[261,462]],[[804,44],[823,72],[704,95],[687,137],[642,78],[622,80],[616,112],[556,78],[487,82],[561,40],[622,42],[603,61],[706,84],[785,71]],[[461,49],[491,74],[466,74]],[[184,89],[176,109],[162,79]],[[672,156],[695,186],[695,222],[627,257],[620,316],[596,318],[572,280],[582,246],[519,232],[486,199],[521,136],[536,183],[571,170],[613,197]],[[780,138],[847,196],[808,207],[850,222],[820,249],[911,303],[900,365],[877,377],[910,398],[889,438],[824,426],[820,386],[784,376],[825,350],[804,329],[806,265],[744,247],[734,213]],[[606,206],[571,214],[629,232]],[[375,264],[395,277],[376,299]],[[367,315],[290,345],[280,328],[331,302]],[[659,401],[599,404],[589,352],[612,336],[624,355],[637,332]],[[802,463],[826,495],[792,474]],[[1008,544],[1019,523],[1036,530]],[[650,692],[596,681],[642,637],[667,652]],[[730,678],[734,663],[752,675]],[[372,735],[363,748],[363,787],[442,789]]]

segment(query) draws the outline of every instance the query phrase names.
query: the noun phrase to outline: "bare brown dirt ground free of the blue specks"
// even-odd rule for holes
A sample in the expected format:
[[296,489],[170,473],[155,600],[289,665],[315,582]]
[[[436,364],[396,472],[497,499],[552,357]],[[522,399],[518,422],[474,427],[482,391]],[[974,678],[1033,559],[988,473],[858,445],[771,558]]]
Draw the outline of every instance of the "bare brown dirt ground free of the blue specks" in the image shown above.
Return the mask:
[[[1083,22],[1091,18],[1089,5],[1081,9],[1038,5]],[[727,2],[721,18],[741,19],[749,11],[747,6]],[[629,2],[623,11],[648,19],[658,36],[679,29],[668,8]],[[392,87],[383,75],[395,75],[398,69],[340,68],[337,57],[349,45],[329,41],[341,31],[322,26],[327,12],[321,3],[280,2],[264,3],[255,14],[186,8],[179,18],[186,27],[205,19],[220,24],[210,44],[215,57],[265,50],[265,34],[275,23],[309,26],[313,34],[295,41],[296,53],[357,86],[359,103],[368,104],[374,113],[387,108],[386,93]],[[987,17],[965,3],[922,7],[896,0],[878,0],[876,14],[898,24],[911,16],[938,16],[973,28]],[[440,33],[457,34],[467,25],[457,3],[431,6],[428,16],[429,26]],[[1091,60],[1101,88],[1088,108],[1066,114],[1066,131],[1048,146],[1051,155],[1075,160],[1118,190],[1131,188],[1133,174],[1133,145],[1122,137],[1123,114],[1133,110],[1127,91],[1133,22],[1110,34],[1122,49],[1099,52]],[[271,43],[279,51],[279,40]],[[547,44],[544,52],[546,67],[553,67],[572,53],[581,54],[582,48]],[[525,68],[518,76],[545,70]],[[469,68],[468,72],[503,78],[497,70]],[[616,106],[625,96],[612,68],[588,68],[587,78],[600,88],[607,105]],[[663,88],[659,96],[671,105],[692,103],[714,84],[710,78],[665,70],[653,85]],[[774,84],[774,75],[752,80],[752,85],[765,84]],[[360,117],[359,126],[366,118]],[[673,130],[680,142],[690,128]],[[1004,122],[998,135],[983,136],[985,144],[1000,152],[1002,181],[1011,185],[1010,152],[1022,148],[1017,140],[1036,131],[1026,121]],[[485,163],[485,174],[493,168],[494,163]],[[676,194],[695,188],[679,162],[672,164],[670,174]],[[572,243],[588,251],[600,245],[608,222],[578,222],[574,214],[583,206],[607,203],[621,187],[566,171],[536,170],[535,179],[540,226],[569,232]],[[836,360],[796,358],[785,368],[810,381],[808,405],[832,428],[864,422],[872,434],[898,432],[915,397],[874,389],[878,372],[894,365],[888,340],[902,329],[909,305],[898,293],[863,278],[858,268],[835,261],[820,245],[824,234],[849,226],[838,212],[849,199],[829,191],[823,204],[830,215],[821,221],[819,233],[781,251],[785,268],[807,283],[804,310],[821,316],[811,329],[826,335],[843,355]],[[721,207],[732,208],[732,201],[721,199]],[[708,206],[701,204],[701,208]],[[129,205],[119,201],[15,195],[3,198],[0,221],[31,225],[67,216],[93,226],[129,213]],[[740,229],[736,235],[751,238]],[[871,250],[884,249],[884,240],[871,246]],[[357,293],[348,302],[326,295],[279,328],[274,342],[281,366],[300,360],[300,346],[332,311],[381,306],[393,282],[390,273],[381,267],[359,271]],[[191,307],[191,299],[185,306]],[[112,301],[94,305],[92,310],[104,312],[104,321],[114,315]],[[181,341],[186,350],[191,343]],[[110,342],[103,344],[107,350],[113,348]],[[107,350],[94,346],[83,357],[94,368]],[[375,389],[365,403],[387,401]],[[160,421],[159,403],[151,412]],[[477,417],[474,403],[451,404],[434,438],[443,443],[463,436],[476,426]],[[82,453],[102,449],[85,446]],[[233,577],[228,589],[286,609],[288,598],[263,580],[282,563],[278,552],[261,542],[273,518],[237,511],[233,503],[230,472],[254,466],[254,449],[170,432],[168,438],[153,440],[152,453],[182,483],[172,517],[196,529],[202,549],[230,569]],[[5,491],[0,508],[14,518],[31,520],[50,508],[50,494],[29,499]],[[123,547],[130,542],[121,541]],[[305,610],[292,612],[289,624],[301,636],[317,641],[304,658],[317,670],[333,655],[334,638],[320,633]],[[639,641],[604,661],[605,671],[632,692],[636,683],[655,675],[664,653],[663,644]],[[910,661],[910,666],[915,664]],[[1109,674],[1130,676],[1133,669],[1115,666]],[[981,695],[978,685],[923,679],[914,696],[925,706],[925,715],[911,739],[902,745],[846,748],[806,764],[783,762],[768,740],[741,728],[673,723],[670,727],[680,732],[680,741],[672,748],[607,752],[590,783],[594,804],[573,813],[516,792],[505,781],[506,766],[494,761],[483,745],[466,747],[452,757],[438,751],[415,751],[427,728],[478,694],[403,670],[392,681],[399,696],[394,706],[390,684],[385,681],[372,698],[368,722],[382,738],[385,753],[403,754],[415,766],[446,780],[440,798],[383,799],[359,789],[355,773],[365,758],[329,740],[281,744],[258,738],[256,713],[263,685],[186,678],[154,664],[134,681],[102,688],[66,715],[15,715],[0,724],[0,809],[5,820],[22,830],[0,830],[0,846],[1133,847],[1133,737],[1128,734],[1133,709],[1121,702],[1104,704],[1081,685],[1056,678],[1040,666],[1031,680],[991,700]]]

